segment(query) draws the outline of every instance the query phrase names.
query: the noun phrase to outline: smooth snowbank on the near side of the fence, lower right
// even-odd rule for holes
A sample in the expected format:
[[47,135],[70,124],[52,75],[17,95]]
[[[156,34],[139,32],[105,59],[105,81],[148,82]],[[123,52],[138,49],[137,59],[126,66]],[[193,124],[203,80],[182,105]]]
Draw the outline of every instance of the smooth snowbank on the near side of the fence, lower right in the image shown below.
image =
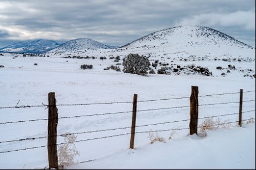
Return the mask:
[[255,169],[255,124],[123,150],[70,169]]

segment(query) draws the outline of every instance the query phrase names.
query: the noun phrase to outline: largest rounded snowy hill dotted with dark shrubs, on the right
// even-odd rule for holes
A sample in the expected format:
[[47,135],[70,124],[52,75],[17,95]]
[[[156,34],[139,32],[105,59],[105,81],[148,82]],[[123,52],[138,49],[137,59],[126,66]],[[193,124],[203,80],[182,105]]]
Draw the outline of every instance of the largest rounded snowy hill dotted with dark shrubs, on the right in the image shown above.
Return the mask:
[[125,49],[144,49],[152,52],[166,53],[216,54],[216,56],[231,54],[255,53],[255,48],[247,45],[225,33],[201,26],[183,26],[164,29],[144,36],[122,46]]

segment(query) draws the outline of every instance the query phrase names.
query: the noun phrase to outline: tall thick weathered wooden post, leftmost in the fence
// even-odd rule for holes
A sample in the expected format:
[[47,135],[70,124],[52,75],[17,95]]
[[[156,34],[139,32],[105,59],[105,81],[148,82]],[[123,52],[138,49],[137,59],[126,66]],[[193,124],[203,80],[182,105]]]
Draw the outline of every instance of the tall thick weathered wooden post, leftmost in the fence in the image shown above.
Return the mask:
[[49,111],[48,111],[48,162],[49,169],[58,168],[57,156],[57,124],[58,124],[58,109],[56,107],[55,93],[48,94]]

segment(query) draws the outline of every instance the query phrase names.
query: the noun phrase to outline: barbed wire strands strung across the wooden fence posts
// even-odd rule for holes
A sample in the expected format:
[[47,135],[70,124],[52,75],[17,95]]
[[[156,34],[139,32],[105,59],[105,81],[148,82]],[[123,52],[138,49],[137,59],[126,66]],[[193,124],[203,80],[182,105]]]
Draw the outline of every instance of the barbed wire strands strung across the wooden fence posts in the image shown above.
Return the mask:
[[[123,133],[123,134],[115,134],[115,135],[109,135],[109,136],[105,136],[105,137],[98,137],[98,138],[90,138],[90,139],[83,139],[80,141],[75,141],[75,142],[63,142],[63,143],[51,143],[51,145],[44,145],[44,146],[36,146],[36,147],[28,147],[28,148],[20,148],[20,149],[16,149],[16,150],[7,150],[7,151],[0,151],[0,154],[6,154],[9,152],[16,152],[16,151],[24,151],[24,150],[32,150],[32,149],[36,149],[36,148],[43,148],[43,147],[48,147],[51,148],[53,146],[59,146],[59,145],[64,145],[64,144],[68,144],[68,143],[77,143],[77,142],[86,142],[86,141],[94,141],[97,139],[106,139],[106,138],[114,138],[114,137],[121,137],[121,136],[125,136],[125,135],[131,135],[131,138],[133,138],[134,140],[134,135],[135,134],[143,134],[143,133],[154,133],[154,132],[161,132],[161,131],[173,131],[173,130],[191,130],[192,128],[189,126],[189,128],[174,128],[174,129],[163,129],[163,130],[150,130],[150,131],[135,131],[135,128],[140,128],[140,127],[146,127],[146,126],[156,126],[156,125],[163,125],[163,124],[172,124],[172,123],[177,123],[177,122],[184,122],[184,121],[196,121],[196,129],[202,128],[201,126],[197,126],[197,121],[198,120],[202,120],[205,118],[214,118],[214,117],[223,117],[223,116],[231,116],[234,114],[239,114],[241,118],[239,118],[238,121],[232,121],[232,122],[224,122],[222,124],[216,124],[216,125],[212,125],[212,126],[220,126],[220,125],[225,125],[225,124],[234,124],[238,122],[238,125],[241,125],[241,122],[244,121],[251,121],[251,120],[255,120],[255,117],[253,118],[249,118],[249,119],[243,119],[242,120],[242,113],[249,113],[249,112],[255,112],[255,109],[249,110],[249,111],[245,111],[245,112],[241,112],[242,111],[242,103],[248,103],[251,101],[255,101],[255,99],[252,100],[245,100],[242,101],[241,99],[241,95],[244,93],[251,93],[251,92],[255,92],[255,91],[240,91],[240,92],[232,92],[232,93],[222,93],[222,94],[210,94],[210,95],[200,95],[197,96],[197,100],[198,97],[210,97],[210,96],[222,96],[222,95],[233,95],[233,94],[240,94],[240,101],[230,101],[230,102],[222,102],[222,103],[209,103],[209,104],[197,104],[197,105],[183,105],[183,106],[178,106],[178,107],[167,107],[167,108],[154,108],[154,109],[142,109],[142,110],[138,110],[137,111],[137,103],[146,103],[146,102],[151,102],[151,101],[164,101],[164,100],[179,100],[179,99],[191,99],[192,95],[189,97],[174,97],[174,98],[167,98],[167,99],[154,99],[154,100],[141,100],[141,101],[120,101],[120,102],[106,102],[106,103],[85,103],[85,104],[44,104],[42,103],[42,105],[20,105],[19,101],[18,103],[14,106],[14,107],[0,107],[0,109],[20,109],[20,108],[36,108],[36,107],[41,107],[41,108],[48,108],[50,110],[50,108],[56,108],[58,106],[78,106],[78,105],[105,105],[105,104],[126,104],[126,103],[133,103],[133,105],[136,105],[135,110],[133,109],[133,111],[124,111],[124,112],[110,112],[110,113],[99,113],[99,114],[85,114],[85,115],[76,115],[76,116],[67,116],[67,117],[48,117],[48,118],[42,118],[42,119],[35,119],[35,120],[20,120],[20,121],[10,121],[10,122],[0,122],[0,125],[3,124],[16,124],[16,123],[23,123],[23,122],[32,122],[32,121],[50,121],[51,120],[59,120],[59,119],[64,119],[64,118],[79,118],[79,117],[92,117],[92,116],[108,116],[111,114],[125,114],[125,113],[133,113],[133,121],[136,121],[136,113],[137,112],[148,112],[148,111],[160,111],[160,110],[167,110],[167,109],[179,109],[179,108],[193,108],[193,107],[200,107],[200,106],[208,106],[208,105],[222,105],[222,104],[234,104],[234,103],[240,103],[240,112],[238,113],[227,113],[227,114],[220,114],[220,115],[215,115],[215,116],[208,116],[208,117],[198,117],[198,113],[197,113],[197,117],[196,118],[190,118],[187,120],[176,120],[176,121],[167,121],[167,122],[159,122],[159,123],[154,123],[154,124],[146,124],[146,125],[132,125],[132,126],[126,126],[126,127],[119,127],[119,128],[112,128],[112,129],[101,129],[101,130],[92,130],[92,131],[81,131],[81,132],[74,132],[74,133],[65,133],[65,134],[58,134],[58,135],[48,135],[48,136],[42,136],[42,137],[31,137],[31,138],[20,138],[20,139],[14,139],[14,140],[10,140],[10,141],[0,141],[0,143],[10,143],[10,142],[21,142],[21,141],[34,141],[36,139],[52,139],[52,138],[56,138],[56,137],[65,137],[67,135],[80,135],[80,134],[88,134],[88,133],[98,133],[98,132],[102,132],[102,131],[115,131],[115,130],[123,130],[123,129],[134,129],[134,133]],[[193,92],[192,92],[193,93]],[[191,99],[192,100],[192,99]],[[135,113],[135,117],[134,117],[134,113]],[[191,113],[192,114],[192,113]],[[192,117],[192,116],[191,116]],[[190,122],[190,124],[191,124]],[[195,127],[194,127],[195,128]],[[57,133],[56,133],[57,134]],[[132,142],[132,141],[131,141]],[[134,142],[134,141],[133,141]],[[57,154],[57,153],[53,153],[53,154]],[[49,156],[49,155],[48,155]],[[91,162],[93,160],[89,160],[89,161],[85,161],[85,162],[80,162],[80,163],[86,163],[86,162]],[[49,168],[54,168],[53,165],[49,164]],[[59,168],[56,167],[55,168]]]

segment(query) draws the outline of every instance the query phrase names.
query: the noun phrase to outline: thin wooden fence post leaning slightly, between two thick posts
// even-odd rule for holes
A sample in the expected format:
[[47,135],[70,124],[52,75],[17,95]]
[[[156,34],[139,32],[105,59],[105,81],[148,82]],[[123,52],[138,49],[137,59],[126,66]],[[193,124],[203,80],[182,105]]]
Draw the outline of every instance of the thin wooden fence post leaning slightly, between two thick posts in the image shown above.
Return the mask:
[[134,138],[135,138],[135,127],[136,127],[136,114],[137,114],[137,94],[134,94],[133,97],[133,120],[131,122],[131,141],[130,148],[134,148]]

